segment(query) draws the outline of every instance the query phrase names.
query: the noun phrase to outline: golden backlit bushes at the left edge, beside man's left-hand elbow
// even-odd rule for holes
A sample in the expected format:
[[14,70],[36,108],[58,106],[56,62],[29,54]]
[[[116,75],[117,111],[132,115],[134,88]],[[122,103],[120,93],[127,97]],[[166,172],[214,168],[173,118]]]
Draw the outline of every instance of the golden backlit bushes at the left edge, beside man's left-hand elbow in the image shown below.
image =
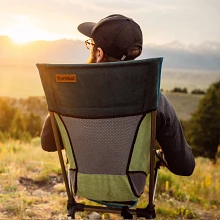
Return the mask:
[[42,120],[32,112],[21,112],[9,104],[7,99],[0,98],[0,140],[10,138],[30,141],[40,135]]

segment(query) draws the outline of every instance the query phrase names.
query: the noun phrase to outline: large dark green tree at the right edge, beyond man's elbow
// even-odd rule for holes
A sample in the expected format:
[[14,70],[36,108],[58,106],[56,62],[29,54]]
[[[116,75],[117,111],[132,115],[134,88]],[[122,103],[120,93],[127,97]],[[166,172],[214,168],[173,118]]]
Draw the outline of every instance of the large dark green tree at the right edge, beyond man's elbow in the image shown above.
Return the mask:
[[215,160],[220,141],[220,81],[208,88],[189,126],[187,136],[194,155]]

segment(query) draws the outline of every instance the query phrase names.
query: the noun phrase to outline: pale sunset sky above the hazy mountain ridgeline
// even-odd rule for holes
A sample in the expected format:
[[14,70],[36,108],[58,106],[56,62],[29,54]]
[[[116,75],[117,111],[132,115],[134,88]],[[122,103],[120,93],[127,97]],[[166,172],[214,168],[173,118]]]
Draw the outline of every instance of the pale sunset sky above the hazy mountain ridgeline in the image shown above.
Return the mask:
[[220,42],[219,0],[0,0],[0,35],[17,42],[84,39],[78,24],[115,13],[141,26],[144,43]]

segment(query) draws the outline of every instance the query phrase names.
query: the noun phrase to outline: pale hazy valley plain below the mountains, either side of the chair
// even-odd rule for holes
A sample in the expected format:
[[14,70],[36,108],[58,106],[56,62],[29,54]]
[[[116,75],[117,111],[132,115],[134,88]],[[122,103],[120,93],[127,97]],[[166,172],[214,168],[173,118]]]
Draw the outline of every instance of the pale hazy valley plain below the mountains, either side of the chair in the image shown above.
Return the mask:
[[[189,92],[195,88],[206,90],[218,79],[218,72],[163,69],[161,88],[163,91],[172,90],[174,87],[186,87]],[[35,64],[0,65],[0,96],[27,98],[43,95]]]

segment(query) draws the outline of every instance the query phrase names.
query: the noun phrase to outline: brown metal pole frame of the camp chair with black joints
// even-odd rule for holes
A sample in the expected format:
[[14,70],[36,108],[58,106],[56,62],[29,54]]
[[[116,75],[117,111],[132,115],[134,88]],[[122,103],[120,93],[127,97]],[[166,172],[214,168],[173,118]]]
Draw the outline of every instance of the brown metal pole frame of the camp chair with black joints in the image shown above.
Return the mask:
[[68,196],[68,201],[67,201],[68,220],[75,219],[76,212],[83,212],[83,211],[96,211],[102,213],[108,212],[114,214],[121,214],[121,216],[124,217],[125,219],[133,219],[133,215],[136,215],[137,217],[143,217],[146,219],[156,218],[154,196],[156,191],[158,169],[160,168],[160,163],[159,163],[160,161],[158,161],[155,166],[156,112],[157,112],[156,110],[151,112],[152,120],[151,120],[151,146],[150,146],[149,202],[146,208],[129,209],[127,206],[124,206],[122,208],[90,206],[90,205],[77,203],[75,201],[73,192],[71,191],[68,182],[67,171],[65,168],[62,149],[61,149],[62,140],[60,139],[59,136],[59,131],[56,124],[54,112],[49,111],[58,157],[59,157],[64,183],[66,187],[66,192]]

